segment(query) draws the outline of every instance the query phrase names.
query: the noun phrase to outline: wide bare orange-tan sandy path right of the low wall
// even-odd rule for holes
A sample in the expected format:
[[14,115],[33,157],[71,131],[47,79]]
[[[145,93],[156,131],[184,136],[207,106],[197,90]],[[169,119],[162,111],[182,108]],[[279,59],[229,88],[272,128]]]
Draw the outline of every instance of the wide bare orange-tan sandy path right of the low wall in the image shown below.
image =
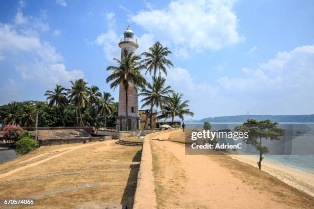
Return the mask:
[[[180,130],[179,130],[180,131]],[[173,132],[172,132],[173,133]],[[166,138],[169,133],[161,133]],[[233,176],[230,170],[204,155],[185,155],[184,145],[170,141],[151,141],[179,160],[186,180],[179,200],[186,205],[199,202],[205,208],[291,208],[273,201],[272,195],[255,190]],[[162,166],[167,166],[164,164]]]

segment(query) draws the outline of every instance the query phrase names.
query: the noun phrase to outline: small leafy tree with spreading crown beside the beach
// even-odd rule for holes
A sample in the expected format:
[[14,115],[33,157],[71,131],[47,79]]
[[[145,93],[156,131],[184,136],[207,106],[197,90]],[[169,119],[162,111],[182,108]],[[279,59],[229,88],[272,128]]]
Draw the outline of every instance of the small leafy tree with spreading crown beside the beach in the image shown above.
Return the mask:
[[278,122],[271,122],[270,120],[257,121],[247,119],[241,126],[235,127],[234,131],[248,132],[248,138],[244,138],[243,141],[251,144],[260,152],[260,160],[257,162],[260,170],[262,168],[263,155],[269,152],[268,148],[263,146],[262,138],[279,140],[279,137],[284,135],[284,130],[278,127]]

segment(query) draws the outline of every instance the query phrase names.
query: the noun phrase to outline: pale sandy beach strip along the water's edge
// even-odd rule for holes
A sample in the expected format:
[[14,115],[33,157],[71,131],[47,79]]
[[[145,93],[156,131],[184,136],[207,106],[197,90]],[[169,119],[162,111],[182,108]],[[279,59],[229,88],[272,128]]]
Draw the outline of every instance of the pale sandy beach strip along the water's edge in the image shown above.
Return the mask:
[[[228,155],[232,159],[250,164],[258,168],[258,157],[251,155]],[[314,197],[314,174],[307,173],[295,168],[269,162],[267,159],[262,161],[262,171],[280,179],[286,184],[301,190]]]

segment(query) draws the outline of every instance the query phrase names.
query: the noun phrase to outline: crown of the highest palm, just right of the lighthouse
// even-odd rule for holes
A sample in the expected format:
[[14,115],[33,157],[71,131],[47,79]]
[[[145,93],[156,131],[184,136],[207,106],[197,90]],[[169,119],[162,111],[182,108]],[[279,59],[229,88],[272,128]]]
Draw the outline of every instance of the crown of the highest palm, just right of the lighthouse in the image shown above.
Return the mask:
[[156,43],[149,48],[149,52],[143,52],[141,54],[146,57],[146,59],[143,59],[141,61],[141,64],[144,64],[147,68],[146,73],[149,72],[151,75],[153,73],[153,77],[156,77],[156,72],[159,71],[159,74],[161,71],[163,71],[167,75],[166,67],[168,68],[172,65],[172,62],[168,59],[166,59],[166,56],[171,54],[171,51],[168,50],[168,47],[163,47],[159,41],[156,41]]

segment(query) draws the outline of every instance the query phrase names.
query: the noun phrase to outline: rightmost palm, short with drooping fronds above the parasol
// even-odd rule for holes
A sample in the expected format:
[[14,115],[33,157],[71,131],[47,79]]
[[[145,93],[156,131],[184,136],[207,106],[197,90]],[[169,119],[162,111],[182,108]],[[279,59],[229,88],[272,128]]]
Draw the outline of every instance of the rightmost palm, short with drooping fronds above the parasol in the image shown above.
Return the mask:
[[187,109],[189,100],[181,102],[182,96],[183,94],[173,92],[171,98],[166,103],[164,112],[158,118],[172,118],[171,121],[173,122],[175,116],[179,116],[181,120],[184,120],[184,115],[193,116],[194,113]]

